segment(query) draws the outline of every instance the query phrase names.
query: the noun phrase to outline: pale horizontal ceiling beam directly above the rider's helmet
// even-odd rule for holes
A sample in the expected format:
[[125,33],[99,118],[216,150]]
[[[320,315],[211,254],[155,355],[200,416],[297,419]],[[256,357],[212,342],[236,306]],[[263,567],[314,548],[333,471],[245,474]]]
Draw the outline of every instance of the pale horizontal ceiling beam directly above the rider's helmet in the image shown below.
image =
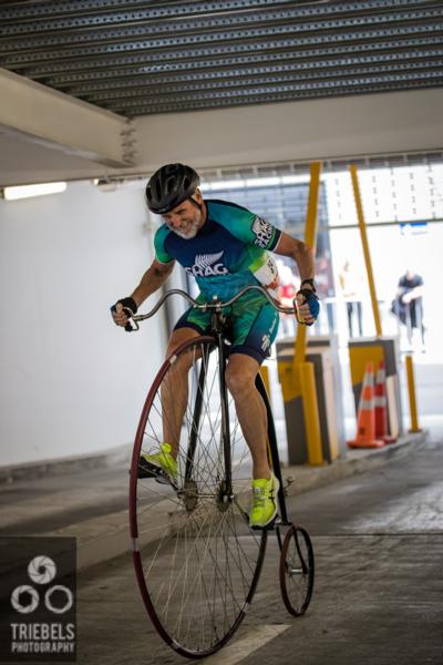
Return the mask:
[[443,89],[136,117],[137,160],[225,167],[441,151]]

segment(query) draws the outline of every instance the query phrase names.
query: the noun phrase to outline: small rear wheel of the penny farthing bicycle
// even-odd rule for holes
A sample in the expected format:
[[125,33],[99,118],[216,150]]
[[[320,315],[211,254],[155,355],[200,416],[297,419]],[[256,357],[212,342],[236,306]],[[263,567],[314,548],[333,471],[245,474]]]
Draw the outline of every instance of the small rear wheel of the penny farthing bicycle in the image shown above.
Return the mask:
[[315,576],[313,549],[308,532],[291,524],[280,553],[280,590],[286,608],[301,616],[312,597]]

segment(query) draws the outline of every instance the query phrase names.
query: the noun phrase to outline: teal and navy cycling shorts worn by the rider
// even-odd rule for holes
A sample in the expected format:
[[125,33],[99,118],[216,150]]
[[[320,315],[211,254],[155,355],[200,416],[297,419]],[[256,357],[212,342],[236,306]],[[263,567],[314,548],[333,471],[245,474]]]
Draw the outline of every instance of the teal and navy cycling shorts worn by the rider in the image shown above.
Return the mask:
[[[197,300],[204,303],[203,296]],[[231,341],[230,354],[246,354],[261,365],[270,355],[279,324],[278,311],[261,295],[246,294],[230,307],[225,307],[224,315],[228,324],[228,339]],[[178,319],[174,330],[193,328],[206,335],[210,330],[210,311],[189,307]]]

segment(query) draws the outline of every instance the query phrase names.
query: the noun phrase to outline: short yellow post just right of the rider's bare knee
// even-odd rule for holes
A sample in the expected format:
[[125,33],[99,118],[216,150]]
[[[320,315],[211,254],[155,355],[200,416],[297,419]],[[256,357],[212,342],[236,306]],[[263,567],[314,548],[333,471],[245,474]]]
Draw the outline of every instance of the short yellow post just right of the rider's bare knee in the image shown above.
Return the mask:
[[308,442],[308,463],[312,467],[319,467],[323,464],[324,460],[321,449],[320,418],[317,403],[313,362],[301,362],[299,365],[299,371],[303,401],[306,439]]

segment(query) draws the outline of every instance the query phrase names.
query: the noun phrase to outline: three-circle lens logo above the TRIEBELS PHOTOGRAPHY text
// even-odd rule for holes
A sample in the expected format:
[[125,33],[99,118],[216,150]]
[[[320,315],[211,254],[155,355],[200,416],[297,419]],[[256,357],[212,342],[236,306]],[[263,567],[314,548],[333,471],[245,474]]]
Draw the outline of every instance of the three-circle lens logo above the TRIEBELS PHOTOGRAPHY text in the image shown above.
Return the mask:
[[[28,575],[34,584],[49,584],[56,575],[55,563],[49,556],[34,556],[28,565]],[[53,601],[53,596],[59,602]],[[64,602],[60,604],[60,597]],[[34,612],[40,604],[39,592],[29,584],[17,586],[11,594],[11,605],[20,614]],[[64,614],[74,604],[74,594],[68,586],[55,584],[48,589],[44,594],[44,605],[54,614]]]

